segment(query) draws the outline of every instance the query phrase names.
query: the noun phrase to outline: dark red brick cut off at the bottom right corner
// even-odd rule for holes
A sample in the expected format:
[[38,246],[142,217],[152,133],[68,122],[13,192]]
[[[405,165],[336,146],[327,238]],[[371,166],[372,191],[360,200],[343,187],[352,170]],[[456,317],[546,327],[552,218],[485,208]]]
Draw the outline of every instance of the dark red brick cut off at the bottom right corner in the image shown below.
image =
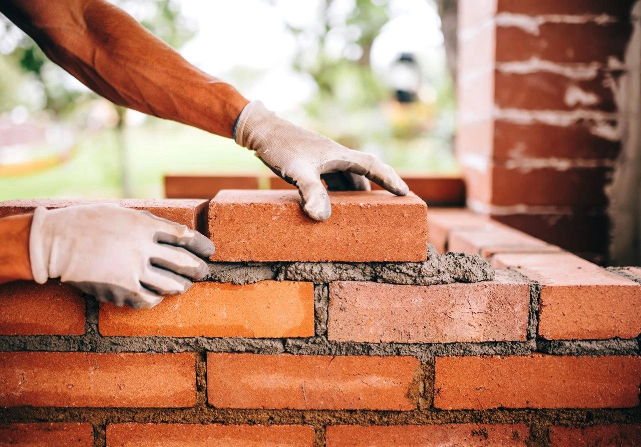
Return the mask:
[[553,426],[550,443],[552,447],[637,447],[641,446],[641,425]]

